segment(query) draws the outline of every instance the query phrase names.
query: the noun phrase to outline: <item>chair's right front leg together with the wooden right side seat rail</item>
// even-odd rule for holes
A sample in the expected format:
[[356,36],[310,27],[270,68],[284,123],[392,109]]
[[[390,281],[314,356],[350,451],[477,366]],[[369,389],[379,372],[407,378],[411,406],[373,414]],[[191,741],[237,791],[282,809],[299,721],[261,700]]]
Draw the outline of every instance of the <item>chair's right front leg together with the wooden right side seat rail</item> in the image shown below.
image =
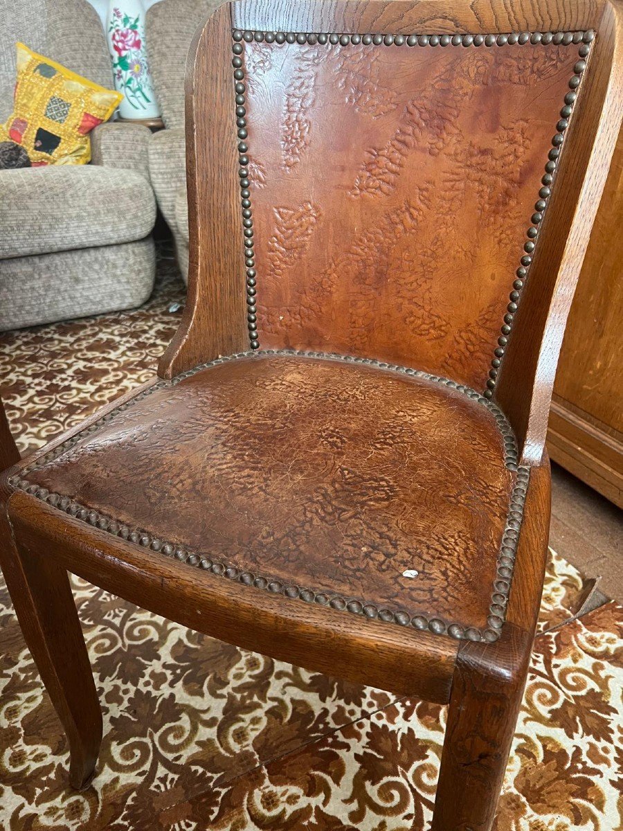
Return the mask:
[[502,637],[491,648],[459,647],[431,831],[488,831],[493,824],[537,626],[550,509],[546,456],[531,472]]

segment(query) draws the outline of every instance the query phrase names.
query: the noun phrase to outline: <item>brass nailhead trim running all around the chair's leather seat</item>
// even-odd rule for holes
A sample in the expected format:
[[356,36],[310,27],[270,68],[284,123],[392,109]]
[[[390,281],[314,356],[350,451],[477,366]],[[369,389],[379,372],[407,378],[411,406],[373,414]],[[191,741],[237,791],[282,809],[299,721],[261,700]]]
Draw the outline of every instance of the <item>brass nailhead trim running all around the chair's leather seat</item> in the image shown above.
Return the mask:
[[[64,511],[76,519],[86,522],[93,527],[105,531],[107,534],[112,534],[115,537],[120,537],[130,543],[135,543],[143,548],[150,548],[152,551],[164,554],[165,557],[174,558],[182,563],[202,568],[209,571],[218,577],[228,578],[238,583],[243,583],[245,586],[254,586],[261,588],[274,594],[282,594],[284,597],[302,600],[308,603],[318,603],[320,606],[330,606],[341,612],[350,612],[351,614],[362,615],[363,617],[375,618],[382,622],[394,623],[398,626],[412,626],[415,629],[426,630],[432,632],[434,635],[447,634],[449,637],[454,637],[458,640],[469,641],[496,641],[500,635],[500,630],[503,626],[506,617],[506,607],[508,603],[508,593],[511,588],[511,581],[513,579],[513,567],[515,562],[515,554],[517,551],[519,531],[521,529],[523,517],[523,504],[527,493],[527,484],[530,477],[530,469],[526,465],[518,465],[518,452],[515,444],[513,430],[508,424],[508,420],[503,412],[496,406],[493,401],[488,401],[487,398],[480,395],[479,392],[471,389],[471,387],[458,384],[456,381],[451,381],[449,378],[429,375],[428,372],[412,369],[409,366],[396,366],[395,364],[388,364],[383,361],[375,361],[372,358],[361,358],[349,355],[338,355],[336,353],[327,352],[299,352],[297,350],[287,349],[267,349],[267,350],[253,350],[251,352],[238,352],[235,355],[223,356],[208,361],[208,363],[195,366],[193,369],[182,372],[179,376],[175,376],[171,381],[157,381],[153,386],[141,391],[137,396],[125,401],[114,410],[106,413],[101,419],[94,422],[90,427],[81,430],[70,439],[64,441],[55,450],[47,453],[32,464],[27,465],[22,470],[23,475],[27,475],[32,470],[39,470],[44,464],[52,462],[63,455],[66,450],[76,445],[78,441],[86,435],[91,435],[105,425],[107,421],[113,419],[117,413],[127,410],[134,404],[135,401],[149,396],[156,390],[165,387],[176,386],[184,378],[189,378],[197,372],[210,368],[211,366],[218,366],[218,364],[227,363],[228,361],[236,361],[240,358],[254,357],[254,356],[299,356],[307,358],[321,358],[322,360],[344,361],[346,363],[360,363],[367,366],[375,366],[377,369],[382,369],[390,372],[396,372],[407,376],[415,376],[424,378],[428,381],[448,386],[464,396],[476,401],[481,406],[485,407],[496,420],[498,430],[502,436],[505,447],[505,463],[508,470],[516,471],[515,484],[513,486],[513,493],[511,495],[510,506],[508,509],[508,517],[506,527],[503,534],[502,544],[498,552],[497,562],[497,578],[493,583],[493,594],[491,604],[489,607],[489,617],[487,628],[481,630],[476,628],[466,628],[456,622],[446,622],[439,617],[428,618],[422,614],[410,615],[405,610],[393,612],[385,607],[380,607],[375,603],[367,602],[359,597],[342,597],[339,594],[328,594],[325,592],[318,592],[316,589],[297,586],[290,583],[282,583],[262,574],[244,571],[234,566],[231,563],[223,563],[221,560],[216,560],[209,557],[202,557],[199,553],[189,551],[187,548],[180,547],[177,543],[169,540],[164,540],[155,537],[149,531],[144,529],[131,529],[127,525],[121,523],[118,519],[112,519],[105,514],[100,514],[98,511],[88,508],[75,499],[61,494],[50,493],[47,488],[41,488],[37,484],[30,483],[27,479],[20,476],[13,476],[9,479],[9,484],[17,489],[31,494],[42,502],[52,505],[53,508]],[[42,465],[43,463],[43,465]]]

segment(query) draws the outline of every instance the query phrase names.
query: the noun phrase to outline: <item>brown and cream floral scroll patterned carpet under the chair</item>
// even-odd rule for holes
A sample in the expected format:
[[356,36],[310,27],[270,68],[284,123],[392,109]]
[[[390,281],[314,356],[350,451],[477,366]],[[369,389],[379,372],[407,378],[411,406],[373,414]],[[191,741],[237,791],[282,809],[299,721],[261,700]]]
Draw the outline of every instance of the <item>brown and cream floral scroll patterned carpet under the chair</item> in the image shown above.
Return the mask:
[[[148,380],[184,287],[162,259],[134,312],[0,336],[22,450]],[[191,632],[73,578],[104,711],[98,775],[66,740],[0,586],[0,828],[423,831],[445,708]],[[496,831],[614,831],[623,811],[623,609],[575,618],[586,587],[552,553]]]

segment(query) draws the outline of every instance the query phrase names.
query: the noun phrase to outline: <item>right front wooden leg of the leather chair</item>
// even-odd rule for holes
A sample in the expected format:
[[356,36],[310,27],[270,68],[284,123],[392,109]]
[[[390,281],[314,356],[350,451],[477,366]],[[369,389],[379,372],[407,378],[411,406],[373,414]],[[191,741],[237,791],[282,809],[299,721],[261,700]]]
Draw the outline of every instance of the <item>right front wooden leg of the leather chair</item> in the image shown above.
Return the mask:
[[497,644],[465,642],[454,669],[431,831],[493,824],[532,647],[507,623]]

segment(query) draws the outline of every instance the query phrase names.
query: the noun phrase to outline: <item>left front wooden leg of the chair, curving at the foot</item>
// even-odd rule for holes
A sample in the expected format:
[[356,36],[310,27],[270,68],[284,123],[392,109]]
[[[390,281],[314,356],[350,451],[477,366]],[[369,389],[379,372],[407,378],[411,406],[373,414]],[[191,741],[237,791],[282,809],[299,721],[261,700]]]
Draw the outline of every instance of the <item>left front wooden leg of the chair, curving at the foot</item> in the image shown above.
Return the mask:
[[100,752],[100,703],[65,568],[12,534],[0,506],[0,564],[27,647],[65,728],[70,781],[84,789]]

